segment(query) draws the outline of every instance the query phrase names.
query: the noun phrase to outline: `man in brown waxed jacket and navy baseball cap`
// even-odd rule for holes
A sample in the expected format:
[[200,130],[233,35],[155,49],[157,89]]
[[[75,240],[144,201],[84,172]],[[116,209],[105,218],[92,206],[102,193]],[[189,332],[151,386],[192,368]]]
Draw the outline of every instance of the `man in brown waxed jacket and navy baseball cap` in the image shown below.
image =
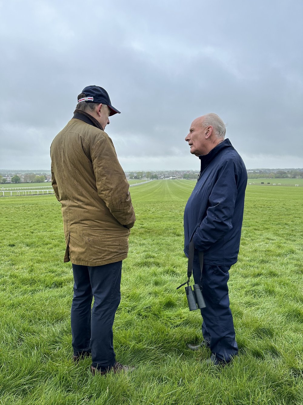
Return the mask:
[[93,374],[129,369],[116,362],[112,330],[122,260],[135,223],[128,181],[104,132],[116,113],[120,111],[102,87],[85,87],[74,117],[50,146],[52,185],[65,233],[64,262],[72,262],[74,275],[73,359],[91,354]]

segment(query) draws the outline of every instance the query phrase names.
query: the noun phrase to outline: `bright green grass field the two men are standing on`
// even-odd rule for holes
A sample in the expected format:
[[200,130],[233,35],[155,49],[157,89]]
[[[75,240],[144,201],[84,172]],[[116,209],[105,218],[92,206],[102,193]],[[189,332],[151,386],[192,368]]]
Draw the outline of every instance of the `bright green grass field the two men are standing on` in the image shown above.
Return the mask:
[[303,188],[248,187],[230,300],[240,356],[206,366],[201,315],[182,289],[183,210],[194,181],[130,189],[137,222],[114,323],[127,375],[92,377],[74,364],[71,264],[55,196],[0,198],[0,404],[302,405]]

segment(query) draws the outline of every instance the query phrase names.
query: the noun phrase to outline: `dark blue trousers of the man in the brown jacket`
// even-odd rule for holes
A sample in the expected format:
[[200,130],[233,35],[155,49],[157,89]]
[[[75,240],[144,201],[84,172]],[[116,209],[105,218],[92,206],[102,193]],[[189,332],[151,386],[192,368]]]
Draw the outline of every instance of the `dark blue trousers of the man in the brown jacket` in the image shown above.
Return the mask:
[[122,261],[104,266],[72,266],[75,281],[71,312],[74,354],[91,352],[93,367],[106,369],[116,361],[113,324],[121,298]]

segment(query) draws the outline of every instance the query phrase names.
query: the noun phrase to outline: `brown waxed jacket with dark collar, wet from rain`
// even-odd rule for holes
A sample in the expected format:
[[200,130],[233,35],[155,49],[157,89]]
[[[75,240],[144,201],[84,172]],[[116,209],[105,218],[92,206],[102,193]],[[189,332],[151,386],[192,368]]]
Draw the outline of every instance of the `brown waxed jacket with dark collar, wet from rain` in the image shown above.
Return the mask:
[[125,259],[135,213],[112,140],[73,118],[53,140],[50,157],[67,246],[64,262],[101,266]]

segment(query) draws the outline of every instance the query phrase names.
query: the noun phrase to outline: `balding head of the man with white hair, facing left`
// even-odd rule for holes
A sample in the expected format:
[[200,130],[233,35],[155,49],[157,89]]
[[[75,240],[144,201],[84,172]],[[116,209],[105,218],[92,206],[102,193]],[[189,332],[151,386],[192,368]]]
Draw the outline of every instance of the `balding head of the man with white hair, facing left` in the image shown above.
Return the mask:
[[190,146],[190,153],[196,156],[207,155],[224,140],[225,133],[225,124],[219,115],[209,113],[194,119],[185,141]]

